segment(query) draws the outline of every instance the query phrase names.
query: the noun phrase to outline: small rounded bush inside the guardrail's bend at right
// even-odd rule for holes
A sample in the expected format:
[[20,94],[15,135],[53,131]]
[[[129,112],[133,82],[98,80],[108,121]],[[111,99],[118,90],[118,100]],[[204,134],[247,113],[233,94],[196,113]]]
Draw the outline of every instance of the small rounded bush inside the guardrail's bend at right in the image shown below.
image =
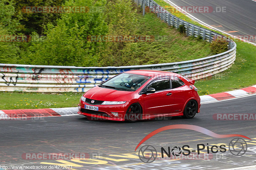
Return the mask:
[[228,41],[222,38],[216,38],[212,41],[210,49],[213,55],[228,51]]

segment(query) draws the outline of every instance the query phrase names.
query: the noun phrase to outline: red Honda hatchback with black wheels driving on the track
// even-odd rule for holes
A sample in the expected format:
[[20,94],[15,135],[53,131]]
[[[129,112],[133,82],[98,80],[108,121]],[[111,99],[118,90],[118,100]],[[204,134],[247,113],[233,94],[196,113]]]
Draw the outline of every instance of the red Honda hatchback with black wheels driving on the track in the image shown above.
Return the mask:
[[129,122],[171,116],[190,119],[201,106],[194,83],[166,71],[126,71],[85,92],[78,114],[88,120]]

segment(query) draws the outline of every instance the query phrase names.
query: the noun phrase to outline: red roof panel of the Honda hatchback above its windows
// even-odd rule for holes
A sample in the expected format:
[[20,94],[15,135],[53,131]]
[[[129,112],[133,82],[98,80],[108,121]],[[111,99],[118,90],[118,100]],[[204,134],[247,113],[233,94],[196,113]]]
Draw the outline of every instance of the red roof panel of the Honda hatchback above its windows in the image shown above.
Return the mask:
[[158,74],[163,74],[163,75],[167,75],[167,76],[170,76],[170,75],[180,76],[180,74],[177,74],[177,73],[161,71],[161,70],[130,70],[130,71],[126,71],[125,73],[139,74],[139,75],[145,75],[145,76],[150,76],[150,77],[153,77]]

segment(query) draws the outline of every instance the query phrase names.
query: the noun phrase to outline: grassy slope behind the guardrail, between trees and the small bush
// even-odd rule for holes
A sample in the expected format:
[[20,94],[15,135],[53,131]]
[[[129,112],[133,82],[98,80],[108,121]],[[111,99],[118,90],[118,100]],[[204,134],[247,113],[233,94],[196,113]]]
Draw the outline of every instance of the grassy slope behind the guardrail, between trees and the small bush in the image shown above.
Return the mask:
[[[100,57],[98,65],[95,66],[170,63],[212,55],[209,42],[185,36],[185,34],[161,21],[154,13],[146,13],[145,16],[137,13],[136,18],[139,24],[136,27],[136,32],[133,33],[134,35],[150,35],[152,38],[153,36],[161,38],[160,41],[126,42],[118,49],[115,48],[117,51],[115,53],[112,53],[112,47],[116,46],[116,43],[111,42],[112,45],[108,49],[102,50],[106,56]],[[165,38],[164,41],[161,41],[162,38]]]

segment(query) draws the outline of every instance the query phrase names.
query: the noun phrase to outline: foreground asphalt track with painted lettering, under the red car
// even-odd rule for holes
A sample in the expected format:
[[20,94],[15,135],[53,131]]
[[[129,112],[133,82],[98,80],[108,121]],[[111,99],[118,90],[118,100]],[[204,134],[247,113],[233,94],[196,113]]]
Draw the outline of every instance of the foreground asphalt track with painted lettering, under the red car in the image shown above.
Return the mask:
[[[137,123],[113,121],[88,121],[84,116],[44,117],[40,120],[1,120],[1,165],[48,166],[71,165],[72,169],[225,169],[256,166],[255,120],[214,120],[215,113],[255,113],[256,95],[233,100],[208,103],[193,119],[174,117],[171,120],[148,120]],[[152,145],[161,154],[161,147],[189,145],[196,150],[197,144],[226,145],[235,137],[214,138],[185,129],[162,131],[145,141],[134,152],[139,142],[150,132],[167,125],[190,124],[204,127],[217,134],[241,134],[247,140],[247,151],[236,157],[229,151],[205,154],[211,160],[165,159],[159,157],[153,163],[143,163],[138,158],[140,147]],[[253,139],[254,138],[254,139]],[[246,139],[246,138],[244,138]],[[7,142],[8,141],[8,142]],[[25,153],[86,153],[90,159],[29,160]],[[204,150],[204,152],[207,152]],[[22,156],[23,154],[23,156]],[[202,153],[201,153],[202,155]],[[94,157],[93,157],[94,156]],[[98,157],[97,157],[98,156]],[[94,158],[94,159],[93,159]],[[15,168],[12,168],[15,169]],[[17,168],[16,168],[17,169]],[[50,168],[48,168],[50,169]],[[56,168],[53,168],[56,169]]]

